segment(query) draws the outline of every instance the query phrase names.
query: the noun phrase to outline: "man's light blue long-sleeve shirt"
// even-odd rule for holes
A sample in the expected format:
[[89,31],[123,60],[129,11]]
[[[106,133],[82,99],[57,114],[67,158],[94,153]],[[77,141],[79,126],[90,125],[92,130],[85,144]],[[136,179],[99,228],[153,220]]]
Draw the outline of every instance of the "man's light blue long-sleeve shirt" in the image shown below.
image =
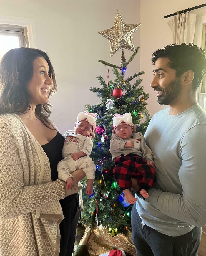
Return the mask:
[[157,182],[148,200],[137,198],[142,221],[179,236],[206,225],[206,112],[195,104],[178,115],[156,113],[145,133]]

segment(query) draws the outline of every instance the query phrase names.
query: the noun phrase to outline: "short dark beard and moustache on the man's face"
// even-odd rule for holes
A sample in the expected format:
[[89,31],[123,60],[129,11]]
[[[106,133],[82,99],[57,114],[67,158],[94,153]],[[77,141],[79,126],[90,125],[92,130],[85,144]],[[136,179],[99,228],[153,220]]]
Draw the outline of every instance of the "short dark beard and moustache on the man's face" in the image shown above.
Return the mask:
[[162,91],[158,97],[157,102],[160,105],[171,105],[177,99],[181,91],[180,78],[174,79],[170,82],[165,89],[162,87],[155,87],[155,91]]

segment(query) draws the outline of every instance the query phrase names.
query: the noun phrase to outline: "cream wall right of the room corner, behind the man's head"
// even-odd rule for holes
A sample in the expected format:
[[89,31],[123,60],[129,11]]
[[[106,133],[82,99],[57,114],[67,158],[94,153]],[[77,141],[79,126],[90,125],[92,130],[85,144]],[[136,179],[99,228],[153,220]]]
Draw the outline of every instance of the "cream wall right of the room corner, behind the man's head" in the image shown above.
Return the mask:
[[[162,49],[164,46],[172,43],[172,32],[167,25],[167,21],[171,19],[171,17],[165,19],[164,16],[200,4],[205,4],[205,0],[140,0],[142,23],[140,69],[145,71],[142,84],[145,87],[145,91],[150,94],[148,110],[151,115],[167,107],[157,103],[157,93],[150,87],[150,82],[153,78],[151,54],[155,50]],[[198,19],[200,16],[206,15],[206,7],[193,10],[191,13],[197,13]]]

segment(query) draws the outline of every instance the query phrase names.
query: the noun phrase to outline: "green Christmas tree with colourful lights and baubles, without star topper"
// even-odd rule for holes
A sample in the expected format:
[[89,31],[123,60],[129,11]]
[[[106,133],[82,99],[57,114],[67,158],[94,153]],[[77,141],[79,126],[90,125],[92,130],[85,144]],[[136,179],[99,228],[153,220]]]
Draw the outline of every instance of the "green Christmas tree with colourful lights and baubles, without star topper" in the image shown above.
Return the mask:
[[[90,157],[96,164],[96,176],[94,179],[94,193],[87,196],[83,193],[83,211],[81,223],[91,228],[102,225],[108,228],[111,236],[117,233],[128,234],[131,230],[131,208],[132,205],[124,202],[124,193],[122,193],[118,184],[112,176],[114,161],[109,152],[110,139],[112,136],[112,117],[114,113],[124,114],[130,112],[132,122],[137,126],[136,132],[144,134],[150,120],[150,115],[146,109],[146,100],[149,94],[144,92],[141,86],[144,72],[135,73],[125,78],[127,66],[134,59],[139,47],[137,47],[126,61],[124,50],[122,49],[121,65],[114,65],[103,60],[100,63],[107,66],[107,82],[101,75],[97,80],[101,88],[92,87],[90,90],[97,93],[101,102],[97,105],[86,105],[89,112],[97,113],[97,131],[93,140],[93,150]],[[109,68],[113,68],[116,76],[114,81],[108,80]],[[135,79],[133,85],[131,81]],[[87,180],[85,179],[83,192]]]

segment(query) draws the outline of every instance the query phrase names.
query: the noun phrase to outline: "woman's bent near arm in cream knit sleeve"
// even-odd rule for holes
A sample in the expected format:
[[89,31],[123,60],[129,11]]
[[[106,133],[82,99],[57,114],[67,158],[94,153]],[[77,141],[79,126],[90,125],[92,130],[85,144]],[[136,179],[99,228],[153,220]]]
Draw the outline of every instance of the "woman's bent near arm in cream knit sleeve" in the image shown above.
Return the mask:
[[[18,142],[17,142],[18,143]],[[57,180],[25,186],[29,176],[27,159],[18,150],[16,138],[5,123],[0,123],[0,218],[11,219],[65,196],[65,183]],[[22,156],[22,157],[20,157]]]

